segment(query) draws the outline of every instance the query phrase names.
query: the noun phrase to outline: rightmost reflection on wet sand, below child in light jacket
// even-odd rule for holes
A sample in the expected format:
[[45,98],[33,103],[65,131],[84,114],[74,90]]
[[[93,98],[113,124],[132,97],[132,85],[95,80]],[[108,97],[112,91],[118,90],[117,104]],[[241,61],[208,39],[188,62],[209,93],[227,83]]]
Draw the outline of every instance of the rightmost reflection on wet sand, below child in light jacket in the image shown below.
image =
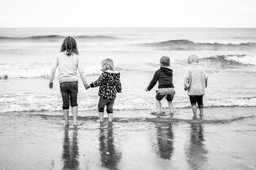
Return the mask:
[[204,141],[204,127],[200,123],[192,123],[190,141],[186,152],[191,169],[202,169],[207,162],[207,150]]

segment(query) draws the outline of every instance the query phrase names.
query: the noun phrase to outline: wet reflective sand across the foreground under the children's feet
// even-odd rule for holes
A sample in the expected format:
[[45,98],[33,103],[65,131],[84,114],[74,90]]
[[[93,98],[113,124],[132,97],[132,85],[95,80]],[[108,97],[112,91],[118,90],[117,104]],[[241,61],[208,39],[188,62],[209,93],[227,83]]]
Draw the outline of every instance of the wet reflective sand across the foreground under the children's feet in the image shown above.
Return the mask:
[[116,111],[112,124],[92,111],[68,128],[61,112],[0,113],[0,169],[256,169],[255,110]]

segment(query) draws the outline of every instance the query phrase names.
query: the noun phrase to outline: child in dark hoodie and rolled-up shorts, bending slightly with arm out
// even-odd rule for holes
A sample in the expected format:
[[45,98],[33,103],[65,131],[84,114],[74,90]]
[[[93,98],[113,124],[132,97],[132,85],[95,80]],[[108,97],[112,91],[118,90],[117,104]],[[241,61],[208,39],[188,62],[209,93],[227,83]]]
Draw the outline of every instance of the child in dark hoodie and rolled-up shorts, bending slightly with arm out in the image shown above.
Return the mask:
[[168,101],[170,113],[173,113],[173,96],[175,95],[174,86],[173,86],[173,73],[172,69],[170,69],[170,58],[169,57],[161,57],[160,59],[160,69],[156,71],[153,79],[151,80],[148,87],[145,88],[146,92],[150,91],[154,85],[156,85],[158,81],[158,89],[156,90],[156,106],[159,114],[161,113],[161,100],[166,97]]

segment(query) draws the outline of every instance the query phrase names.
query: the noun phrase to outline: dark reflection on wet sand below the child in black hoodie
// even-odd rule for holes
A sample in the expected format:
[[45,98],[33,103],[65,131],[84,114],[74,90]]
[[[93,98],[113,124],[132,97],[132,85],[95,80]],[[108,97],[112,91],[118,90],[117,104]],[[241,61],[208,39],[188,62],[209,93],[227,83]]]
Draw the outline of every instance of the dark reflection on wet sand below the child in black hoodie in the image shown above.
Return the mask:
[[163,159],[170,159],[173,153],[172,124],[156,124],[158,153]]

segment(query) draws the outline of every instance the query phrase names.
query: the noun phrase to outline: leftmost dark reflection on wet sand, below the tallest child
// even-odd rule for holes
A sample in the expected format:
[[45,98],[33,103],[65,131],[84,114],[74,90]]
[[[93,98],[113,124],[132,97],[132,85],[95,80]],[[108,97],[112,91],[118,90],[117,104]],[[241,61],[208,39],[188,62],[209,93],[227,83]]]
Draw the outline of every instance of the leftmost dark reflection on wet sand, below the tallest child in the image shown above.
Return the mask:
[[[72,139],[68,138],[68,133],[72,132]],[[79,169],[79,152],[77,145],[77,128],[65,129],[63,138],[63,153],[62,159],[64,162],[63,169]]]

